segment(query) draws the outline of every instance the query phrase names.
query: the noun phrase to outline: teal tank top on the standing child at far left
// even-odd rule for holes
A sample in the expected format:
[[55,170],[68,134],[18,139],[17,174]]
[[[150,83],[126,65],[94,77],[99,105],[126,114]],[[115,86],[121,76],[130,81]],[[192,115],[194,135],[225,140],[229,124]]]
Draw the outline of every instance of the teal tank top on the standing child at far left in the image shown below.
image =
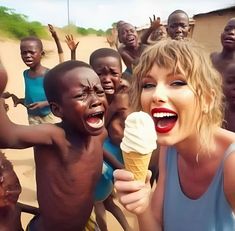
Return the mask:
[[[31,78],[29,76],[29,70],[25,70],[23,75],[25,81],[25,104],[28,105],[39,101],[47,101],[43,87],[44,76]],[[49,106],[35,110],[28,109],[27,111],[28,114],[32,116],[46,116],[51,112]]]

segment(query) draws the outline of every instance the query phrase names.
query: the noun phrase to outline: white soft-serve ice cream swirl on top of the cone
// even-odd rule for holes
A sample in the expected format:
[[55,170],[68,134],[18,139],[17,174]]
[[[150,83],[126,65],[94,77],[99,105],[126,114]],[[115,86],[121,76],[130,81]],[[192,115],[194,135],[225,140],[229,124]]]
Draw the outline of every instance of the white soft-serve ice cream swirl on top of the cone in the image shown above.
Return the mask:
[[157,148],[157,134],[151,116],[143,111],[131,113],[125,120],[122,151],[149,154]]

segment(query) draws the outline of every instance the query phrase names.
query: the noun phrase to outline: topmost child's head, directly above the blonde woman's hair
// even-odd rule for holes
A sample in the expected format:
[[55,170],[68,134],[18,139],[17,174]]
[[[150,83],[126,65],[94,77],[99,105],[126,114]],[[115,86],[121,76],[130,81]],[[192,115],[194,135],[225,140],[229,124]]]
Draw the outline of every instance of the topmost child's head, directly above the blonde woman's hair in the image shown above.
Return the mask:
[[190,31],[189,17],[183,10],[173,11],[167,20],[167,33],[175,40],[187,38]]

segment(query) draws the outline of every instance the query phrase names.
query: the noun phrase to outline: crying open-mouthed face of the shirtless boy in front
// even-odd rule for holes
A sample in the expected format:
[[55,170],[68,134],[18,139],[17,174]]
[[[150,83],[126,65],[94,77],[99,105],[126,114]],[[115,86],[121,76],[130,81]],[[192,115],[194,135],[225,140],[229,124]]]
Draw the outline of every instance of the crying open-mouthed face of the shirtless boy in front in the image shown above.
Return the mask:
[[104,128],[107,100],[97,74],[90,68],[68,71],[60,82],[60,117],[79,133],[99,135]]

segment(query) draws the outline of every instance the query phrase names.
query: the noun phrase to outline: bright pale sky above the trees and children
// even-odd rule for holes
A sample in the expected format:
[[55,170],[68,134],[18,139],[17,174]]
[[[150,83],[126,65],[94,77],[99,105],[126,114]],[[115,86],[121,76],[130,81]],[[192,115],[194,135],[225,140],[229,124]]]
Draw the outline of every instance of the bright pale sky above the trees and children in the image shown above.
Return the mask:
[[63,27],[69,22],[78,27],[107,30],[119,20],[141,27],[154,14],[165,21],[172,11],[181,9],[192,17],[235,6],[235,0],[0,0],[0,5],[43,25]]

